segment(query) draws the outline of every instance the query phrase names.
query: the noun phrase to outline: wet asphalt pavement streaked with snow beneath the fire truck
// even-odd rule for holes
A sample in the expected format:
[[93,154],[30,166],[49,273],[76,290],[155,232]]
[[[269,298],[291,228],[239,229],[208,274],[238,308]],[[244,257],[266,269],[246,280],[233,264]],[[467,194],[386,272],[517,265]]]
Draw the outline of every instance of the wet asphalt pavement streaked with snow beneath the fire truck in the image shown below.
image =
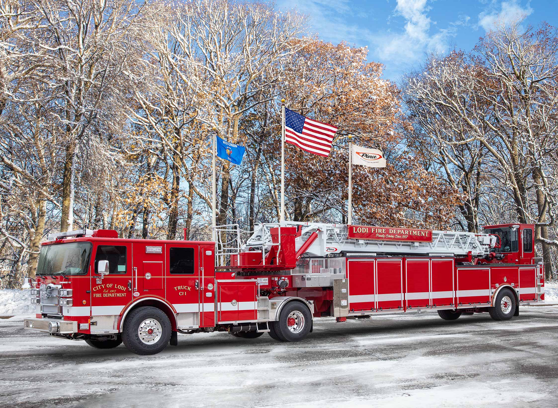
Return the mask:
[[0,406],[558,406],[558,306],[444,321],[335,323],[299,343],[179,335],[155,356],[96,350],[0,319]]

